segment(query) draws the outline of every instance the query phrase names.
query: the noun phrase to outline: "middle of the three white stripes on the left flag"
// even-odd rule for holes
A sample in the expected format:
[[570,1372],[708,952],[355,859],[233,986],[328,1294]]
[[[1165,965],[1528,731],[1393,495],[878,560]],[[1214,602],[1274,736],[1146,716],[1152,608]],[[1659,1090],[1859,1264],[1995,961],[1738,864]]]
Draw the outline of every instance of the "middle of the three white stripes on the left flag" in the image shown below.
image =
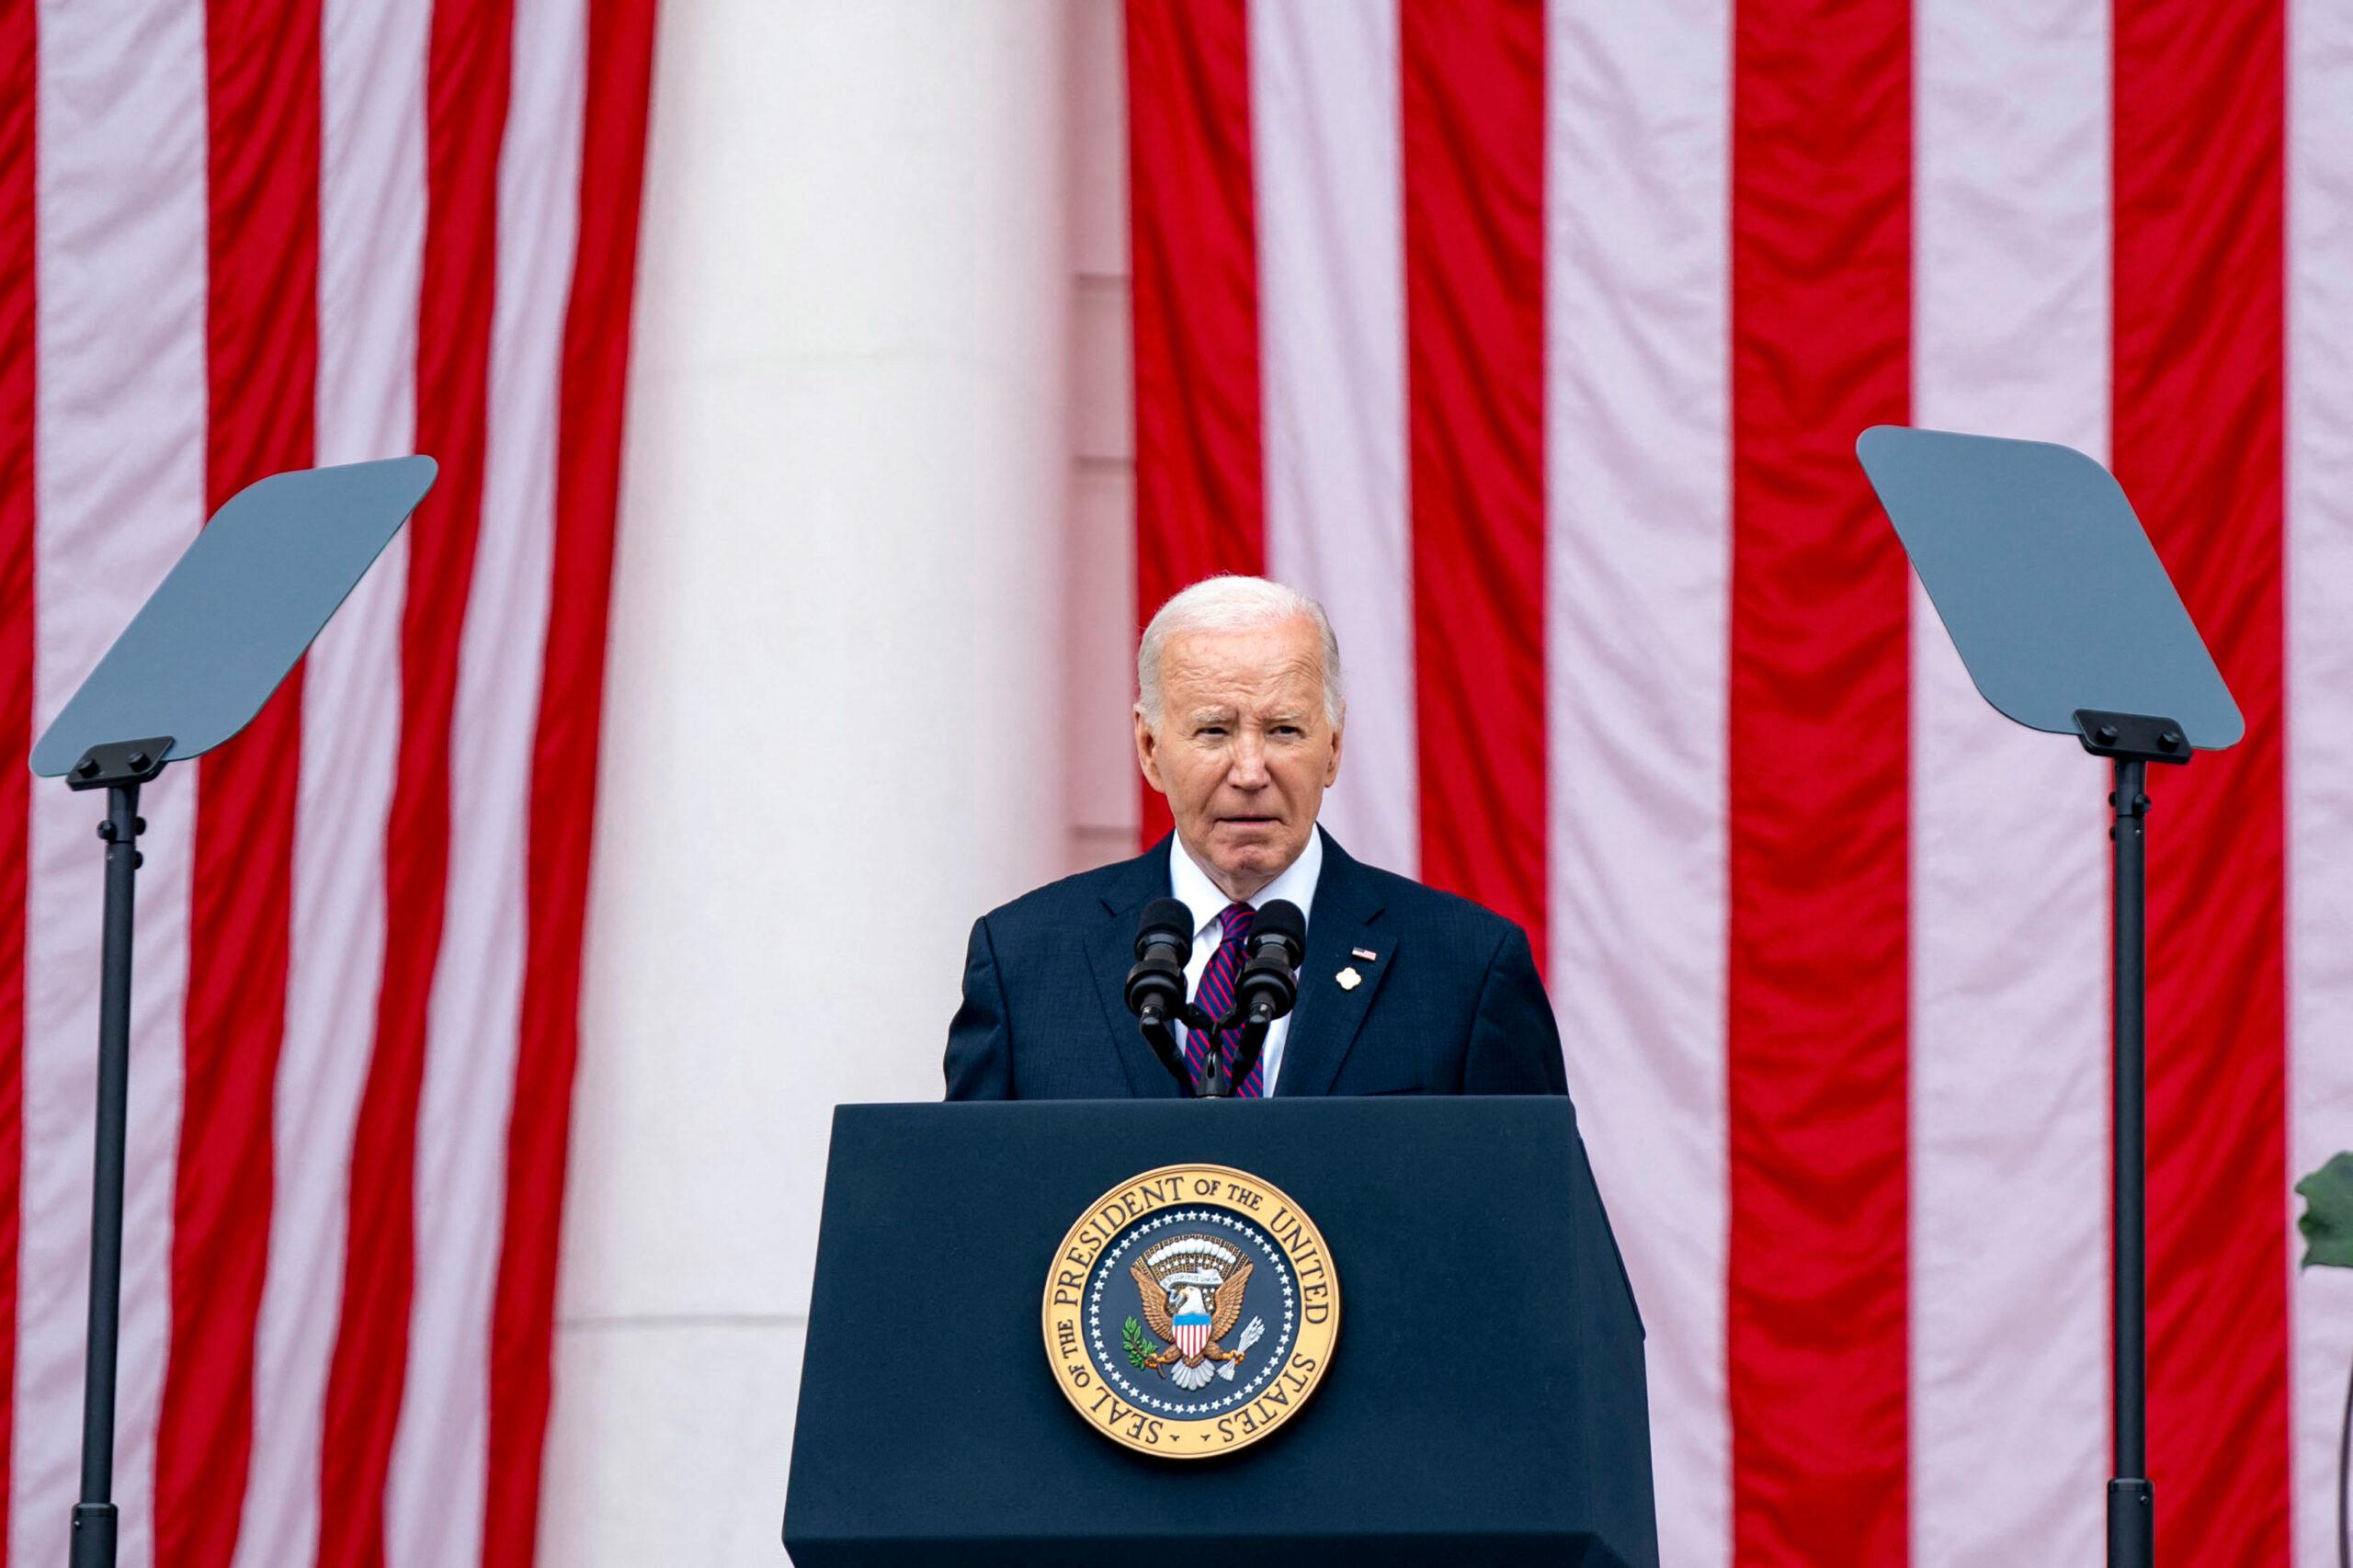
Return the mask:
[[[431,7],[320,16],[318,461],[414,450]],[[407,530],[311,647],[273,1114],[271,1267],[254,1328],[238,1568],[318,1549],[320,1422],[344,1288],[351,1132],[384,963],[384,833],[400,744]]]

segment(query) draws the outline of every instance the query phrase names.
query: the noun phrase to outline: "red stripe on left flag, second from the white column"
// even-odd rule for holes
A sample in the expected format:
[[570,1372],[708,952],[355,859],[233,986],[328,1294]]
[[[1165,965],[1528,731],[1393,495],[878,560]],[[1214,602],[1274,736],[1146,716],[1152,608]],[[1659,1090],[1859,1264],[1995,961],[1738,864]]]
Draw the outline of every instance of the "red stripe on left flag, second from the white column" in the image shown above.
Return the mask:
[[449,716],[482,525],[492,257],[511,57],[511,0],[435,5],[426,57],[416,450],[440,461],[440,480],[409,518],[400,760],[384,850],[384,986],[351,1154],[344,1314],[327,1375],[320,1462],[320,1568],[384,1563],[384,1479],[400,1422],[416,1271],[426,1003],[449,873]]

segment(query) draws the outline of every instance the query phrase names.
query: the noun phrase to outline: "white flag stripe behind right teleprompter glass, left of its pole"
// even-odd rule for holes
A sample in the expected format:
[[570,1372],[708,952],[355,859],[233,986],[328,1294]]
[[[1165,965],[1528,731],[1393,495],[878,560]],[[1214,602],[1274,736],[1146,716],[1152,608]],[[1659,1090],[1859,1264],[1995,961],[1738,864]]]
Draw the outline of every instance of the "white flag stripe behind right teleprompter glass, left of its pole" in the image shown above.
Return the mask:
[[[2106,14],[1925,0],[1915,170],[1913,421],[2106,452]],[[2097,1561],[2106,772],[1911,626],[1913,1561]]]

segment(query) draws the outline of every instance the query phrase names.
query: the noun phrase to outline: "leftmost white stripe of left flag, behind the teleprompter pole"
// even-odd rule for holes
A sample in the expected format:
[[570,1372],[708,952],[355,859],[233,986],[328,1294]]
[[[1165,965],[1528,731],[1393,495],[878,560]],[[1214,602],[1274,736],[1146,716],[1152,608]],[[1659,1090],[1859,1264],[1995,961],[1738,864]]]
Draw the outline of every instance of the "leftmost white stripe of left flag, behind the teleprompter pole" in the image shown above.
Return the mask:
[[[205,520],[205,14],[40,7],[40,730]],[[129,739],[129,737],[127,737]],[[141,798],[115,1502],[155,1554],[198,768]],[[33,786],[9,1552],[66,1559],[82,1431],[104,803]]]

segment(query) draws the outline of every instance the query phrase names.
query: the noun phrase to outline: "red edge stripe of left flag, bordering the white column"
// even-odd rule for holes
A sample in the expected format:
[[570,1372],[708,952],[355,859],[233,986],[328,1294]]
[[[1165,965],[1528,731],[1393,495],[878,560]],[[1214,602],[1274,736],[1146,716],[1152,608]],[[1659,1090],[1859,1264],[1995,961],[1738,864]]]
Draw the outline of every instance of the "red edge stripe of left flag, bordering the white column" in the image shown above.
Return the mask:
[[591,0],[586,101],[595,113],[581,148],[579,245],[565,313],[555,582],[532,753],[529,935],[508,1121],[506,1248],[489,1337],[482,1568],[529,1568],[539,1544],[652,57],[654,0]]

